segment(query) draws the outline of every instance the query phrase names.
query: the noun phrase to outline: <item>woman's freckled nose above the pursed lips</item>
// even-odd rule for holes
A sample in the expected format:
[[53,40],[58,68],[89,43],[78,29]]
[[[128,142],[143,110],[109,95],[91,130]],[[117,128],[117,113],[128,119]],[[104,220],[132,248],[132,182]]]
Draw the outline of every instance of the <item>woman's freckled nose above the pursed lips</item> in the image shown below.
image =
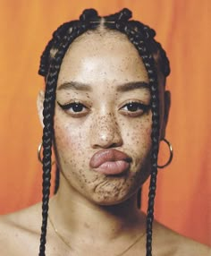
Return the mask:
[[122,145],[120,127],[114,114],[96,116],[91,127],[90,141],[93,149],[108,149]]

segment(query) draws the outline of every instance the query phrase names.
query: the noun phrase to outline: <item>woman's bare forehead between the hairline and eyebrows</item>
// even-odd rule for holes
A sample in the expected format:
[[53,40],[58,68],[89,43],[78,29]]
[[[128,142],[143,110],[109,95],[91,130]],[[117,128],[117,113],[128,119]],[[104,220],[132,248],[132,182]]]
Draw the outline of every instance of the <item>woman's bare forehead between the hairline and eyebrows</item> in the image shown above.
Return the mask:
[[58,85],[84,80],[148,82],[148,73],[137,49],[125,35],[103,29],[76,38],[63,57]]

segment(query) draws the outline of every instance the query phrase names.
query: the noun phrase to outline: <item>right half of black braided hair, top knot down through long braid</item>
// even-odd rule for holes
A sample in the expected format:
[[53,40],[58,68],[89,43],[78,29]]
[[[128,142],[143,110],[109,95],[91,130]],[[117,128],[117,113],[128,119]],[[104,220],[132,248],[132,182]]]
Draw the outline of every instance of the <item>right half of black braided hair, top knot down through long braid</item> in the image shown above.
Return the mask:
[[139,51],[139,55],[148,72],[149,88],[151,93],[151,111],[152,111],[152,148],[151,148],[151,177],[148,192],[148,216],[147,216],[147,244],[146,255],[152,255],[152,226],[154,220],[154,203],[156,196],[156,175],[157,175],[157,154],[159,147],[159,98],[158,83],[156,75],[156,64],[152,53],[159,51],[161,72],[167,76],[170,73],[169,62],[165,55],[165,51],[159,43],[154,39],[156,33],[148,26],[139,21],[128,21],[131,18],[131,11],[123,9],[122,12],[112,16],[116,19],[114,24],[111,19],[105,20],[105,26],[109,29],[116,29],[126,34],[131,43]]

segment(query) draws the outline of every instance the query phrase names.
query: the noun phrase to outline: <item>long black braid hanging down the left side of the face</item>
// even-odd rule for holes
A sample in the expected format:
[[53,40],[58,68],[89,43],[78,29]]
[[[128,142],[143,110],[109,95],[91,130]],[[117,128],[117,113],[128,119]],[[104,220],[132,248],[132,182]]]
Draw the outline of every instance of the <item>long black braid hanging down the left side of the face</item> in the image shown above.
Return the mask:
[[[50,194],[52,141],[54,138],[55,90],[58,74],[67,48],[75,38],[79,37],[80,34],[84,33],[86,30],[89,30],[89,23],[75,21],[72,28],[69,28],[69,33],[64,35],[62,42],[60,42],[58,48],[56,49],[56,54],[51,59],[49,67],[47,67],[48,63],[46,62],[46,57],[49,55],[49,52],[44,52],[44,57],[41,58],[41,61],[43,60],[44,63],[41,63],[40,67],[43,70],[43,74],[46,75],[46,93],[43,110],[43,199],[39,256],[46,255],[46,226]],[[50,44],[54,45],[55,42],[50,41]],[[49,49],[49,47],[46,47],[47,51],[49,51]]]

